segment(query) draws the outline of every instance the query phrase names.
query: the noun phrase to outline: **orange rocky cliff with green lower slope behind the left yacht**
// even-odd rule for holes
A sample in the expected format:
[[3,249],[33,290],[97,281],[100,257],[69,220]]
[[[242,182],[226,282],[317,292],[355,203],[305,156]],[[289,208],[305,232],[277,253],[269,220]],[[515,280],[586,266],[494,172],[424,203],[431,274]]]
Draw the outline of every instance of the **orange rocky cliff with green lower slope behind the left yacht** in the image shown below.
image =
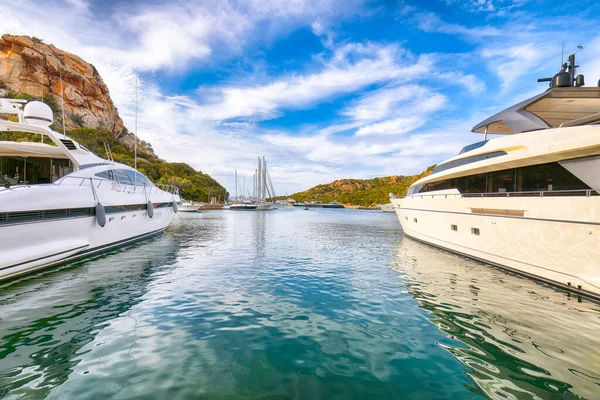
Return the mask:
[[[111,148],[115,161],[133,166],[135,139],[115,108],[98,71],[80,57],[28,36],[2,35],[0,39],[0,97],[41,100],[54,112],[52,129],[62,129],[60,75],[65,99],[67,135],[95,154]],[[0,116],[2,117],[2,116]],[[39,135],[0,133],[0,140],[39,141]],[[184,163],[161,160],[149,143],[138,140],[138,169],[155,183],[179,187],[185,199],[223,200],[227,191],[217,181]]]

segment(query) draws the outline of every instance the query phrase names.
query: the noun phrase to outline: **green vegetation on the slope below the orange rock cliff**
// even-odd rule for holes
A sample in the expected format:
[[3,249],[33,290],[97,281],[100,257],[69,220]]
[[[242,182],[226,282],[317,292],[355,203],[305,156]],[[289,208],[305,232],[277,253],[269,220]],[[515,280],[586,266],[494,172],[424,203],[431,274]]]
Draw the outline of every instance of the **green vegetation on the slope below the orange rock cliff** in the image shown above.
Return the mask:
[[[9,96],[16,99],[40,100],[26,93],[9,92]],[[62,132],[60,121],[61,109],[54,97],[44,96],[44,103],[48,104],[54,113],[54,124],[51,129]],[[14,116],[7,119],[15,120]],[[83,120],[81,121],[83,123]],[[124,129],[117,137],[114,133],[105,129],[78,128],[67,131],[67,136],[73,138],[97,156],[107,158],[104,144],[110,146],[112,156],[116,162],[131,167],[134,166],[133,145],[135,138],[133,134]],[[16,142],[40,142],[41,136],[26,132],[1,132],[0,140]],[[48,143],[48,139],[45,140]],[[52,143],[51,143],[52,144]],[[229,196],[229,193],[217,181],[201,171],[196,171],[185,163],[169,163],[158,158],[152,147],[138,140],[138,170],[146,175],[154,183],[167,183],[177,186],[181,196],[187,200],[208,201],[210,197],[217,197],[221,201]]]

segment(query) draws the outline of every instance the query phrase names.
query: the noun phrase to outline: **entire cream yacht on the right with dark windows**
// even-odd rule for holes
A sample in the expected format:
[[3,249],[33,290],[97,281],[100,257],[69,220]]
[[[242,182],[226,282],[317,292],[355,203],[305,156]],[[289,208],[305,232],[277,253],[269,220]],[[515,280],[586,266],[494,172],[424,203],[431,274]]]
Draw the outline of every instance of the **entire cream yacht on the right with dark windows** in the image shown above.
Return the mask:
[[600,85],[575,68],[573,54],[544,93],[477,124],[484,141],[390,196],[404,233],[600,299]]

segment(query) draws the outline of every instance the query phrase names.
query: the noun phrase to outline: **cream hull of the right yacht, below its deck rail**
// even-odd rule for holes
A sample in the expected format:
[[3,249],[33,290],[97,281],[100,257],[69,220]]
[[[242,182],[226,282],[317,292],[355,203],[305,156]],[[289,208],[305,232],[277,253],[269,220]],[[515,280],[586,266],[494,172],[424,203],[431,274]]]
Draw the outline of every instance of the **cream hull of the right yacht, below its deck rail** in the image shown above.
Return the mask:
[[416,240],[600,299],[600,197],[392,199]]

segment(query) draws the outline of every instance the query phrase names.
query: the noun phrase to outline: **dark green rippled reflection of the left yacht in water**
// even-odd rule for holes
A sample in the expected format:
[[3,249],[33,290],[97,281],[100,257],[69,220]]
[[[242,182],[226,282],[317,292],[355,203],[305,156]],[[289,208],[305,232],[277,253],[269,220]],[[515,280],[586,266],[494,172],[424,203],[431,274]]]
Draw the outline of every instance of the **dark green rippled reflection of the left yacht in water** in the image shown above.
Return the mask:
[[162,235],[0,286],[0,398],[43,398],[66,382],[84,346],[140,303],[177,254],[177,242]]

